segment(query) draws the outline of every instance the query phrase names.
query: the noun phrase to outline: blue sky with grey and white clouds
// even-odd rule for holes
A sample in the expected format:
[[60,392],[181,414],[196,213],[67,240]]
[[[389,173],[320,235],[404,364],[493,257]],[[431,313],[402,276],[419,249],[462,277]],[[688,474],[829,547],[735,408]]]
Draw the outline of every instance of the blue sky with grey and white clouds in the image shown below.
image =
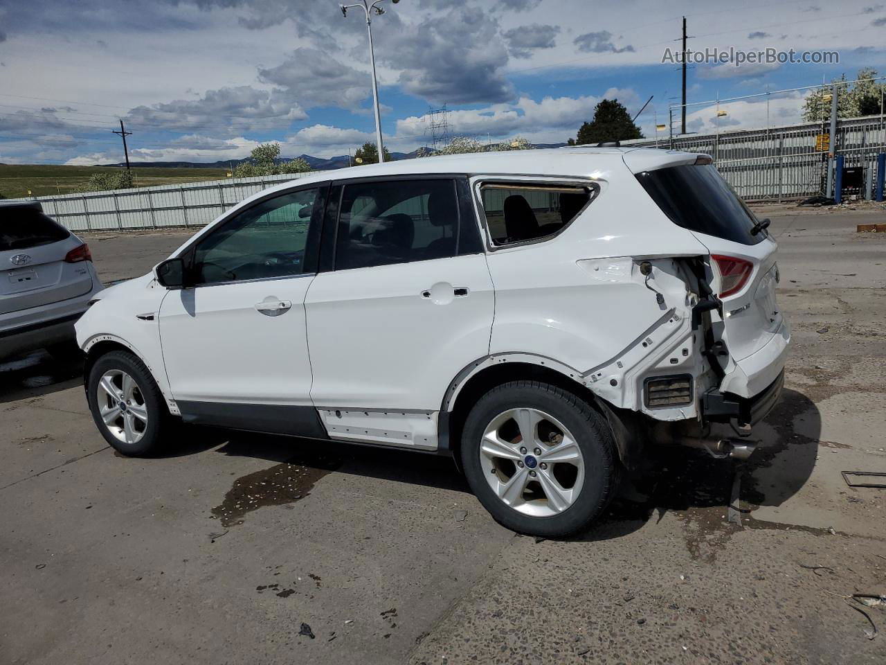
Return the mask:
[[[884,0],[886,2],[886,0]],[[818,0],[402,0],[373,20],[385,145],[427,145],[428,109],[451,131],[554,143],[602,98],[646,136],[679,103],[689,46],[834,50],[838,65],[698,65],[690,102],[820,83],[861,66],[886,74],[886,5]],[[799,120],[802,93],[729,102],[720,127]],[[768,108],[767,108],[768,107]],[[688,129],[710,129],[692,106]],[[346,154],[374,140],[366,26],[334,0],[0,0],[0,162],[216,161],[263,141],[284,156]],[[666,132],[663,133],[666,134]]]

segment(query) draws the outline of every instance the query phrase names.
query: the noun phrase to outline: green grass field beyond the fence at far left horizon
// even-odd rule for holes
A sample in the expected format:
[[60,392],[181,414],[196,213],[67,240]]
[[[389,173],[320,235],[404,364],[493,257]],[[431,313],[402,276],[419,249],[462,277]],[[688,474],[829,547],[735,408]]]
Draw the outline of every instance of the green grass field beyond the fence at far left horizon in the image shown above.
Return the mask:
[[[28,195],[48,196],[70,194],[81,190],[95,173],[119,172],[116,167],[74,167],[57,164],[0,164],[0,194],[7,199]],[[225,168],[151,168],[132,169],[136,187],[153,184],[197,183],[202,180],[221,180]]]

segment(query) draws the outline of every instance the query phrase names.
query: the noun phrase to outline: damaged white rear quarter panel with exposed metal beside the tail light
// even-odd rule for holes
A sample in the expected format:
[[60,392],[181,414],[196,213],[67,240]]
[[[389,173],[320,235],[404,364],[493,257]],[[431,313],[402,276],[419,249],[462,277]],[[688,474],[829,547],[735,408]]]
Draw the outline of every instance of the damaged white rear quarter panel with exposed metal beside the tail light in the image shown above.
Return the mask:
[[[672,224],[623,165],[595,176],[600,194],[562,233],[487,254],[495,287],[490,354],[549,357],[582,372],[582,382],[615,406],[645,411],[647,371],[701,371],[696,349],[681,354],[692,342],[691,302],[673,259],[707,249]],[[664,294],[664,306],[644,285],[639,263],[647,259],[649,286]],[[695,407],[653,411],[678,419]]]

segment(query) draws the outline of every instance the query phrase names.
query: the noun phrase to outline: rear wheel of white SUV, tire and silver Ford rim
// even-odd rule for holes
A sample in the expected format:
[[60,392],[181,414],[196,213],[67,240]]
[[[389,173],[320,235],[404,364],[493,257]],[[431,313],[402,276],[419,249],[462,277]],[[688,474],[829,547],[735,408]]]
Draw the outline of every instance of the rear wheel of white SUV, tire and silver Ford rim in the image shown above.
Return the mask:
[[520,533],[571,536],[617,489],[621,467],[606,419],[562,388],[539,381],[495,387],[463,431],[470,488],[495,520]]

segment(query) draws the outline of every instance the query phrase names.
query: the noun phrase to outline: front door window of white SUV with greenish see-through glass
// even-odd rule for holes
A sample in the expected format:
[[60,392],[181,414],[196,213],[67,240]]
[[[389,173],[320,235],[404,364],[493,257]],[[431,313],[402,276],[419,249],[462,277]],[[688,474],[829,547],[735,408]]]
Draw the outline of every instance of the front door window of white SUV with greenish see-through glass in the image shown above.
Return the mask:
[[300,275],[312,218],[319,223],[323,215],[319,192],[319,188],[301,190],[261,201],[200,240],[194,252],[195,282]]

